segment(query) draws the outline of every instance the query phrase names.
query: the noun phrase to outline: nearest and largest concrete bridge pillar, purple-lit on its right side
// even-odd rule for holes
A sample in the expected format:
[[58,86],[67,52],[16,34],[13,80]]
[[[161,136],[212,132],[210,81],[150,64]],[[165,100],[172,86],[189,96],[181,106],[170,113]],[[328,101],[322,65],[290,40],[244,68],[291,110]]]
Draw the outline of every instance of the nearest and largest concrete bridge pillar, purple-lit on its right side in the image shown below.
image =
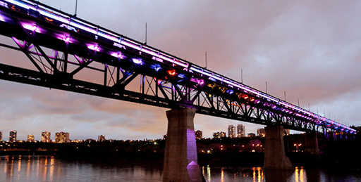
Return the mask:
[[163,182],[202,182],[197,164],[197,145],[193,119],[195,109],[182,108],[166,112],[168,131],[164,153]]

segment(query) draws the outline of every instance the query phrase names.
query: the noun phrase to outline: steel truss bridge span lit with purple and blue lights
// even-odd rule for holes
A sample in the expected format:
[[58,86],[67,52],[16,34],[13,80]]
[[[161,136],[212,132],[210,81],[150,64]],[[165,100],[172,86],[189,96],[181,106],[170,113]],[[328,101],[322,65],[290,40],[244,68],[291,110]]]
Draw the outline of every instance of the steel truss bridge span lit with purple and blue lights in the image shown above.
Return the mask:
[[357,133],[37,1],[0,0],[0,26],[15,42],[0,46],[24,53],[33,65],[0,64],[0,79],[298,131]]

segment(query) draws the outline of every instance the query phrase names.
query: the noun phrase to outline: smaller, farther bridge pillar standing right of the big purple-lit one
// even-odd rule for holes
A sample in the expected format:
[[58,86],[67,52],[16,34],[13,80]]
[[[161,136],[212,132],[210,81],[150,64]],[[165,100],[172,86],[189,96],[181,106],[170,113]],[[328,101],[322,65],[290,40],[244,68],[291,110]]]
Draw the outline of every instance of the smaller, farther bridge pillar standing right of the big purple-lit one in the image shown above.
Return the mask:
[[295,169],[285,154],[283,126],[267,126],[264,146],[264,169]]

